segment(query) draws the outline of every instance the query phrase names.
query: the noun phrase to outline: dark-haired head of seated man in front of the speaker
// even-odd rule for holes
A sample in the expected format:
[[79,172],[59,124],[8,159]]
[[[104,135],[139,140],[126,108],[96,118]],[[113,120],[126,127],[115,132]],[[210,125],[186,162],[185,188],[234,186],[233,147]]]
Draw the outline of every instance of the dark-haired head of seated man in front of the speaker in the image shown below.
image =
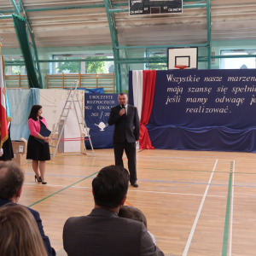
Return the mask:
[[121,166],[102,168],[92,181],[96,206],[116,208],[125,203],[129,184],[129,172]]

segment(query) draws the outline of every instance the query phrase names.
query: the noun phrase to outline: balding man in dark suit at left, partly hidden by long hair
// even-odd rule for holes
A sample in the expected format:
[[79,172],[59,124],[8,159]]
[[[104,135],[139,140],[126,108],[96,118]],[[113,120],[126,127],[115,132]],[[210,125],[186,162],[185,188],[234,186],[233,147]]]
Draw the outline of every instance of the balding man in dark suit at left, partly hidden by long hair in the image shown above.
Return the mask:
[[[23,182],[24,172],[15,164],[15,162],[0,162],[0,207],[3,207],[8,203],[16,204],[19,201]],[[49,237],[44,235],[43,224],[39,212],[28,207],[27,209],[37,221],[38,230],[42,236],[48,255],[55,256],[55,249],[50,246]]]

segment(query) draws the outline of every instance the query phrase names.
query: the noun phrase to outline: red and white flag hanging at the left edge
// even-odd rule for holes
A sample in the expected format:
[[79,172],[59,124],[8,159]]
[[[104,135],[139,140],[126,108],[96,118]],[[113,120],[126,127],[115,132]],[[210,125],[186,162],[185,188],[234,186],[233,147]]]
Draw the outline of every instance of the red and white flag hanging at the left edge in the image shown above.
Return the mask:
[[8,139],[8,120],[6,109],[6,92],[3,78],[3,56],[0,55],[0,148],[3,147],[3,143]]

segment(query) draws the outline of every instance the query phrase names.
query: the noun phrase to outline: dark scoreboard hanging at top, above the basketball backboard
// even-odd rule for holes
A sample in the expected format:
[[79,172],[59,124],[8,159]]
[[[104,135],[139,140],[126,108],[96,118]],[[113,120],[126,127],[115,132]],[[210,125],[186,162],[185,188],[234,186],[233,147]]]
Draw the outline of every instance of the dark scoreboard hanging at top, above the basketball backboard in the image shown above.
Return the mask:
[[183,12],[183,0],[129,0],[130,15],[163,15]]

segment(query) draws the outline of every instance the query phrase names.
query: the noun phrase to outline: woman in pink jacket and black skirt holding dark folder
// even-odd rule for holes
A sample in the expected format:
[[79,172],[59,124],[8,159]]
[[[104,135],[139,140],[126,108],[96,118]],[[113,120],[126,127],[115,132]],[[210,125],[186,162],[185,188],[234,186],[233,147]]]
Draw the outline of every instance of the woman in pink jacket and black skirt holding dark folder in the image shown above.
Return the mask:
[[[35,172],[35,181],[46,184],[44,181],[45,161],[50,160],[49,155],[49,137],[43,137],[39,131],[42,126],[47,127],[44,117],[42,117],[42,106],[34,105],[28,117],[28,128],[30,136],[27,142],[26,159],[32,160],[32,168]],[[44,144],[39,143],[35,137],[44,140]]]

